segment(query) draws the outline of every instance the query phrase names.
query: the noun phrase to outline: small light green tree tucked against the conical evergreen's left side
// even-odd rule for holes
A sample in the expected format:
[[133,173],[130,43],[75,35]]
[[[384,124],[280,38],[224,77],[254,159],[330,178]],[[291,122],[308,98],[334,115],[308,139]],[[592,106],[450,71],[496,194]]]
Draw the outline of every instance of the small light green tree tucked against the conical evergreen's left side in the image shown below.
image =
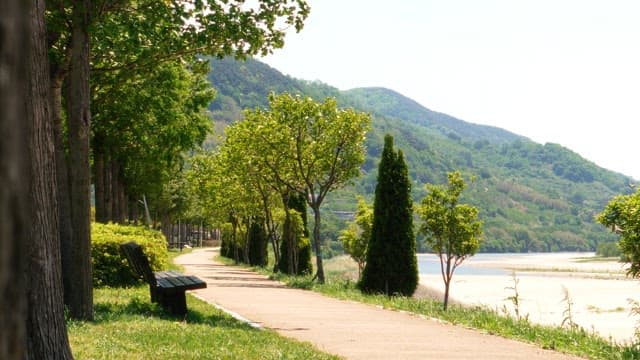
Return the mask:
[[342,230],[338,239],[344,251],[358,264],[358,280],[360,280],[367,263],[367,247],[373,227],[373,209],[362,196],[358,196],[357,199],[358,208],[355,219],[345,230]]

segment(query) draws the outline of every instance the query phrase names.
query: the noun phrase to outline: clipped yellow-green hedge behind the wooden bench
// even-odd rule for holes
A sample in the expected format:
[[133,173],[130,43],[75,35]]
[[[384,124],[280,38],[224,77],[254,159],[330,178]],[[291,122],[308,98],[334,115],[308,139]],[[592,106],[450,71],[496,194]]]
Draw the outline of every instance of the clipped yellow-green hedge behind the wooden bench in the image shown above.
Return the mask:
[[120,244],[134,241],[149,259],[154,271],[168,265],[167,240],[161,232],[142,226],[91,224],[91,265],[95,286],[126,286],[138,282]]

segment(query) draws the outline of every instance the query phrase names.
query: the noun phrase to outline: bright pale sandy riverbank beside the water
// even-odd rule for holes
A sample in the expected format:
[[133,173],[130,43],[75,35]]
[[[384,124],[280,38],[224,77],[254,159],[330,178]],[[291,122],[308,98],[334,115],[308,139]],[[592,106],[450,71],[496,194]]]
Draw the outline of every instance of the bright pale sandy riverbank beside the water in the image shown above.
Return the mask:
[[[588,255],[587,255],[588,256]],[[566,317],[564,288],[572,301],[571,313],[579,326],[605,338],[628,342],[640,317],[630,315],[628,299],[640,300],[640,282],[624,276],[616,261],[585,261],[585,254],[513,255],[498,260],[470,259],[463,266],[514,271],[518,279],[520,314],[536,323],[559,325]],[[421,274],[420,283],[443,291],[440,275]],[[512,275],[457,275],[451,297],[464,304],[482,304],[513,313],[507,298],[514,295]]]

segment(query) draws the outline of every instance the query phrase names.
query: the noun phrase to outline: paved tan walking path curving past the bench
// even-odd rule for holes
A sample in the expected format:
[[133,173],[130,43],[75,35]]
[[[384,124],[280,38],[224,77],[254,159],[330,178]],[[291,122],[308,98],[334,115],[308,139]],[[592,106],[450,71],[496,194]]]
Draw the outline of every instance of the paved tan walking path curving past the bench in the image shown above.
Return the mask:
[[575,359],[417,315],[287,288],[196,249],[175,262],[207,282],[205,301],[347,359]]

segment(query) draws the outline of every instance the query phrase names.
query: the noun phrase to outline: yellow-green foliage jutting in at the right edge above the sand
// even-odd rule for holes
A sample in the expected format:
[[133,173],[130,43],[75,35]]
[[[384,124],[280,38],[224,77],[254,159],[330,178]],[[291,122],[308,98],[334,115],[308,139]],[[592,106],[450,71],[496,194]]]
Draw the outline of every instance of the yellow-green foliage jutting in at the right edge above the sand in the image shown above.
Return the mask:
[[619,195],[598,214],[597,220],[620,235],[620,251],[629,262],[629,275],[640,277],[640,189]]

